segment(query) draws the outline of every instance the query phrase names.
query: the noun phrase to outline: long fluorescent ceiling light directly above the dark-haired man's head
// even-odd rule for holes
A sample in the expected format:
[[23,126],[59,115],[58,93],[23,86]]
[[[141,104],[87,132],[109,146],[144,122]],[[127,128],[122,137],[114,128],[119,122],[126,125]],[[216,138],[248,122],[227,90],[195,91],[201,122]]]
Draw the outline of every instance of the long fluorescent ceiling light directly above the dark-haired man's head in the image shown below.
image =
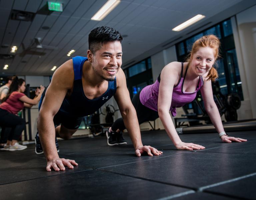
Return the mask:
[[108,0],[104,6],[96,12],[91,20],[101,21],[103,20],[121,1],[120,0]]

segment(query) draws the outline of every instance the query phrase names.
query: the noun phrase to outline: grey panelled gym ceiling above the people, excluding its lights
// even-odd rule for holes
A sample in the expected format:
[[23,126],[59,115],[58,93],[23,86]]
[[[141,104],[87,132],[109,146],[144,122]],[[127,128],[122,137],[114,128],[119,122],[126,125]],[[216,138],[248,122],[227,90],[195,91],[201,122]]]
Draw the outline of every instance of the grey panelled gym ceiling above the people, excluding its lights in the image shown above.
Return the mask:
[[[98,26],[110,26],[126,35],[122,43],[125,68],[256,3],[255,0],[121,0],[102,21],[93,21],[91,17],[107,0],[52,1],[63,3],[63,12],[47,11],[46,0],[0,0],[2,75],[52,75],[53,66],[59,67],[73,56],[86,56],[88,34]],[[14,19],[14,13],[20,11],[29,12],[31,21]],[[206,17],[182,31],[172,31],[197,14]],[[12,46],[18,47],[16,53],[10,53]],[[75,52],[67,56],[72,49]],[[6,64],[8,70],[3,69]]]

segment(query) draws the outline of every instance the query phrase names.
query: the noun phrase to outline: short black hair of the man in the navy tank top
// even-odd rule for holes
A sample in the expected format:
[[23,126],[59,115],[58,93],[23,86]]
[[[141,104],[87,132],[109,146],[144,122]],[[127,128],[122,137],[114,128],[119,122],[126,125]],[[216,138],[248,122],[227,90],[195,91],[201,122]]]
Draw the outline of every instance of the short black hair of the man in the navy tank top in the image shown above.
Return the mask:
[[93,29],[88,37],[89,49],[94,54],[100,49],[99,44],[103,42],[119,41],[122,42],[122,35],[115,29],[108,26],[101,26]]

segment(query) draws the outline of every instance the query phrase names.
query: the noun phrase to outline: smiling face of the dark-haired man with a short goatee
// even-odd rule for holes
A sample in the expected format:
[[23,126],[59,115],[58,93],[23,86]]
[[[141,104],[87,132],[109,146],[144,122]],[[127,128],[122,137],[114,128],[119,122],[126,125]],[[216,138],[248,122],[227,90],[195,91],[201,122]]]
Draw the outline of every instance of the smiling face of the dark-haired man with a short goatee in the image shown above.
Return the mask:
[[94,54],[88,50],[87,55],[98,76],[107,81],[115,79],[122,65],[122,46],[119,41],[104,42]]

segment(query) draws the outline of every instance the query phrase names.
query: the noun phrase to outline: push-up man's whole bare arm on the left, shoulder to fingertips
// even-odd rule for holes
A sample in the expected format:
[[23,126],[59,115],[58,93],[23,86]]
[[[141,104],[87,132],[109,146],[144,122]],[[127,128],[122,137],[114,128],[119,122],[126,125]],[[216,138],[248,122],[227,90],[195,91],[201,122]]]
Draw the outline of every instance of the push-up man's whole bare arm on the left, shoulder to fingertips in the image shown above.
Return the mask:
[[77,165],[75,161],[59,158],[55,145],[55,127],[53,123],[53,117],[60,109],[67,91],[72,88],[73,82],[73,62],[69,60],[54,72],[39,111],[37,125],[47,161],[47,171],[51,171],[51,168],[55,171],[65,170],[64,165],[72,169],[71,164]]

